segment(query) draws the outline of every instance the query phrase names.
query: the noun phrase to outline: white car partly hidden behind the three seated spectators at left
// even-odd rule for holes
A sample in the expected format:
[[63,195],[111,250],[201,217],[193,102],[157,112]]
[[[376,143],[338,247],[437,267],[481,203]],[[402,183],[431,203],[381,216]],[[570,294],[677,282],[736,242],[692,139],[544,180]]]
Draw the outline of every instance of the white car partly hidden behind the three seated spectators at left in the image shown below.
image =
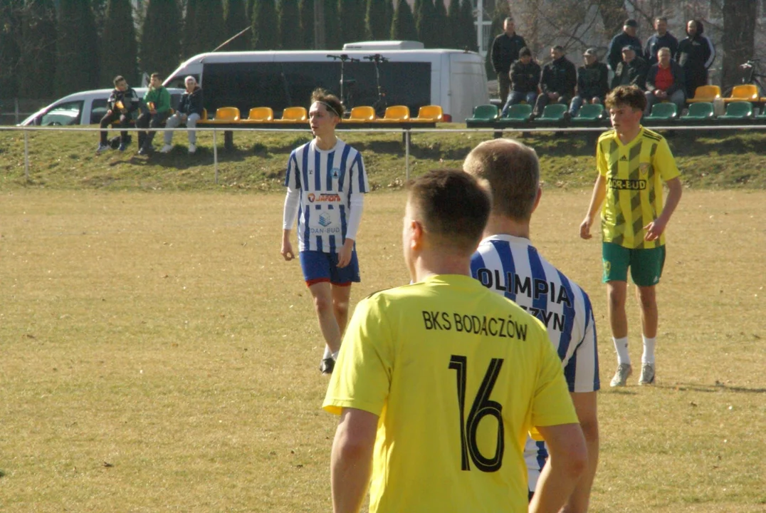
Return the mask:
[[[101,122],[106,114],[106,100],[109,100],[111,89],[85,90],[80,93],[70,94],[54,101],[47,107],[38,110],[30,117],[18,123],[20,127],[39,125],[41,127],[55,125],[94,125]],[[146,87],[135,87],[136,94],[142,98],[146,94]],[[173,108],[178,107],[183,89],[169,88],[170,104]]]

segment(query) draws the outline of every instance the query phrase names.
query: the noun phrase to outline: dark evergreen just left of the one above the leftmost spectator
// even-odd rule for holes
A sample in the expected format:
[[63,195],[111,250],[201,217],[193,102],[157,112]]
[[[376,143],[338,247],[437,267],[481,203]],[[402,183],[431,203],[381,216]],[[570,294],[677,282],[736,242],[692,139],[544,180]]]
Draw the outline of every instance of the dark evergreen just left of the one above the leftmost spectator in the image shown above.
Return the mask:
[[97,87],[98,48],[90,2],[61,0],[54,81],[58,96]]

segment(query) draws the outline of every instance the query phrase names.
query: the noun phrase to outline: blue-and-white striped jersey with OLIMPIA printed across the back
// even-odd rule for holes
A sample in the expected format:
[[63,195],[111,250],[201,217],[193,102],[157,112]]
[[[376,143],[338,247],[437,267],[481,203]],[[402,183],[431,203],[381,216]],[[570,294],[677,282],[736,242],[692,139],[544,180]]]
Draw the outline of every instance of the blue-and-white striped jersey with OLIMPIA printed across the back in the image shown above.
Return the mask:
[[[598,377],[596,325],[588,294],[548,263],[529,242],[512,235],[485,238],[471,258],[473,278],[504,295],[548,328],[558,351],[569,391],[594,392]],[[529,471],[529,490],[548,459],[544,442],[527,438],[524,459]]]

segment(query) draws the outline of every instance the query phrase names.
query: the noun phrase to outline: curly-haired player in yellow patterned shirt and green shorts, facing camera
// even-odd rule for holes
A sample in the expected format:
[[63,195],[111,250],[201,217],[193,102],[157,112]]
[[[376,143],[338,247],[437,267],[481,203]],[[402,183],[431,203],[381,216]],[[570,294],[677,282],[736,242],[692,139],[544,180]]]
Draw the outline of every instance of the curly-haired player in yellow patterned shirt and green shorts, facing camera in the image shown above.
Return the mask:
[[[640,125],[646,97],[638,87],[620,86],[607,95],[614,130],[598,138],[598,177],[580,236],[591,238],[591,225],[601,203],[604,282],[609,322],[617,350],[617,372],[611,386],[625,386],[633,373],[627,350],[627,270],[641,306],[643,355],[640,385],[654,383],[657,335],[656,284],[665,263],[665,227],[681,199],[681,180],[667,141]],[[663,182],[668,187],[663,205]],[[605,202],[604,202],[605,200]]]

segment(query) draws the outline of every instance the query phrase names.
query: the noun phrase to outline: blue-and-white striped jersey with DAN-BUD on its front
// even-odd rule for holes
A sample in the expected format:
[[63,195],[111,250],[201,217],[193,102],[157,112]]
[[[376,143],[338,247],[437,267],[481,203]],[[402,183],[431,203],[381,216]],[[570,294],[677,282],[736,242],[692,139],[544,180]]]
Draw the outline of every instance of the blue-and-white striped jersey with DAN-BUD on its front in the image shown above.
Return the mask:
[[319,150],[311,141],[290,153],[284,185],[300,191],[299,250],[337,252],[352,196],[369,190],[362,154],[342,140],[332,150]]

